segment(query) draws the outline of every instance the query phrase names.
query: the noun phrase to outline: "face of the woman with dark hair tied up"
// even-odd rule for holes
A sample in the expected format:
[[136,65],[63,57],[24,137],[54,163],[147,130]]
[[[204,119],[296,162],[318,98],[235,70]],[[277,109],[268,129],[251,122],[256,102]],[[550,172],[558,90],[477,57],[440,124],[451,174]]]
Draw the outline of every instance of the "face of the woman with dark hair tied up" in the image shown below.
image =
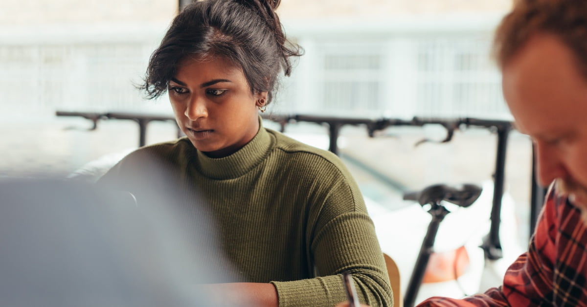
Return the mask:
[[242,69],[221,56],[194,56],[178,65],[168,86],[177,124],[194,147],[209,157],[226,157],[259,130],[257,103]]

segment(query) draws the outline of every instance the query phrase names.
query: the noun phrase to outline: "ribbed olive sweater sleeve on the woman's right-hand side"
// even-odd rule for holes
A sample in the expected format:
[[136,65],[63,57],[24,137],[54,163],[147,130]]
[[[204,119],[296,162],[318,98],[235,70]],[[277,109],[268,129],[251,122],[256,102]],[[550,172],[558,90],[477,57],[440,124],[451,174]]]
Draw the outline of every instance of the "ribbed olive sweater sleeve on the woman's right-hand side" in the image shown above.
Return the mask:
[[332,184],[311,193],[318,195],[311,200],[319,203],[316,207],[320,209],[310,219],[308,230],[316,277],[272,282],[278,291],[279,306],[334,306],[346,301],[343,271],[352,275],[360,302],[393,306],[375,226],[355,181],[344,166],[339,167],[339,176],[331,176]]

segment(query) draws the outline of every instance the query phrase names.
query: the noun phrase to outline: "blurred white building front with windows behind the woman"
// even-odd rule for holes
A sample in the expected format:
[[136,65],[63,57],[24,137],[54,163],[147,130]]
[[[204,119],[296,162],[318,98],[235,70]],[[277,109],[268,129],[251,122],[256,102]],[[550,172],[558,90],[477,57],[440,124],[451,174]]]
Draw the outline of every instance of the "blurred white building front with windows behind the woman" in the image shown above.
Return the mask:
[[[499,14],[284,19],[305,48],[274,113],[508,117],[490,59]],[[0,27],[0,110],[167,110],[134,88],[168,23]]]

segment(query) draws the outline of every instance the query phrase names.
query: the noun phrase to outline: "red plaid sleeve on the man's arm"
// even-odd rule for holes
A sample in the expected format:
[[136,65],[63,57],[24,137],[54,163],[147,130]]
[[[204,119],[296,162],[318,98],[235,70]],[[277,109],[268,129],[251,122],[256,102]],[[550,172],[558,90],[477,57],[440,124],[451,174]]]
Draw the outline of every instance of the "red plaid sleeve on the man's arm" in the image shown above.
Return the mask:
[[548,193],[528,251],[505,272],[502,286],[464,299],[434,297],[418,306],[535,306],[552,298],[552,269],[558,229],[554,191]]

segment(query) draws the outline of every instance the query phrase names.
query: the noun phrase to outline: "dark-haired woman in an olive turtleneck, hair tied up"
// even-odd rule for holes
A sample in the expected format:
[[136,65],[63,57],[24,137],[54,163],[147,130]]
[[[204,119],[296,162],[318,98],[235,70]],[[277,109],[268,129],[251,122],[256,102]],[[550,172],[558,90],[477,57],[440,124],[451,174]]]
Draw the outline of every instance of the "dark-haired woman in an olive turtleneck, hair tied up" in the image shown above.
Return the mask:
[[204,286],[227,302],[334,306],[346,300],[340,274],[349,271],[360,301],[392,305],[373,223],[348,170],[332,153],[262,127],[258,110],[271,102],[278,73],[289,75],[289,57],[300,55],[285,39],[278,5],[188,5],[151,56],[143,85],[151,98],[168,92],[186,137],[129,154],[100,182],[138,203],[173,188],[187,220],[203,203],[244,281]]

